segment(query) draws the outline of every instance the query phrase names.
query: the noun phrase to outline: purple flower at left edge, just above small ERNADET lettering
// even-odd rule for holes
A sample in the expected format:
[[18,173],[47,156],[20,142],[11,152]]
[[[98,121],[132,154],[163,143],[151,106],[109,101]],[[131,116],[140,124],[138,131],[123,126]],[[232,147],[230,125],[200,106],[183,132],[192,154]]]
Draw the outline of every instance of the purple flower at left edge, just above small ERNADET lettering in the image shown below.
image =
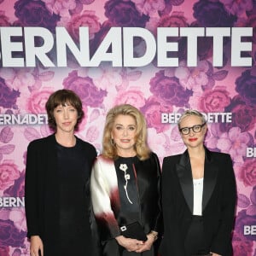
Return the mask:
[[0,106],[3,108],[17,108],[16,100],[20,96],[18,90],[10,90],[4,79],[0,78]]

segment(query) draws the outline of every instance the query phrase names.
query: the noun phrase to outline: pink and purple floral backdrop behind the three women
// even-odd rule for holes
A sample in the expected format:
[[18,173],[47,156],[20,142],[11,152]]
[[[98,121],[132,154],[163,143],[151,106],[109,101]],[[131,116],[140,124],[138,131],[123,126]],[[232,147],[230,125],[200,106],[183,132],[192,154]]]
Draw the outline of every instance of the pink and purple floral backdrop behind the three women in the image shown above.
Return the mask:
[[[206,145],[229,153],[234,162],[238,201],[233,234],[234,255],[256,255],[256,1],[234,0],[0,0],[0,26],[41,26],[53,34],[64,26],[78,38],[79,26],[90,29],[96,50],[112,26],[253,27],[252,67],[230,67],[230,38],[224,40],[224,65],[212,67],[212,41],[198,38],[197,67],[186,65],[186,41],[179,44],[178,67],[22,67],[0,69],[0,255],[29,255],[24,211],[26,147],[49,135],[48,126],[8,123],[4,116],[44,114],[50,93],[67,88],[79,94],[85,117],[78,136],[101,150],[102,125],[109,108],[131,103],[148,122],[150,147],[160,161],[183,152],[175,122],[161,113],[196,108],[203,113],[232,113],[232,122],[209,122]],[[138,41],[135,54],[143,50]],[[1,61],[1,60],[0,60]],[[2,64],[1,64],[2,65]],[[5,120],[5,121],[4,121]]]

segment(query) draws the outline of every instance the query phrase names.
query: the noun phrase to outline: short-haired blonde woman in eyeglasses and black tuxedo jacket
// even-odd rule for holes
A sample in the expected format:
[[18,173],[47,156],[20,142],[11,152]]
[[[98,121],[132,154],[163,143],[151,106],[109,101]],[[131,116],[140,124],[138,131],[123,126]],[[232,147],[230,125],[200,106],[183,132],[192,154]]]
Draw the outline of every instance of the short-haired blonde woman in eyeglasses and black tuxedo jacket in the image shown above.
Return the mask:
[[204,146],[207,122],[200,112],[185,111],[177,125],[187,150],[163,161],[161,256],[232,255],[236,180],[230,155]]

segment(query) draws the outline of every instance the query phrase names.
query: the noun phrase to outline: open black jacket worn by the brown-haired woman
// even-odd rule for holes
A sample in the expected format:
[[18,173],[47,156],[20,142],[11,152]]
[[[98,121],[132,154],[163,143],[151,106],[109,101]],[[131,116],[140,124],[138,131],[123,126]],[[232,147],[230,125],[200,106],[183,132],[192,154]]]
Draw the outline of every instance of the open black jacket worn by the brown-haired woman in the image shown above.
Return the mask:
[[[84,157],[91,170],[96,149],[77,137],[84,145]],[[84,170],[85,171],[85,170]],[[90,201],[90,173],[84,173],[84,185]],[[44,241],[55,241],[58,224],[58,179],[55,135],[32,141],[27,148],[25,208],[27,236],[40,236]],[[88,209],[90,214],[90,207]]]

